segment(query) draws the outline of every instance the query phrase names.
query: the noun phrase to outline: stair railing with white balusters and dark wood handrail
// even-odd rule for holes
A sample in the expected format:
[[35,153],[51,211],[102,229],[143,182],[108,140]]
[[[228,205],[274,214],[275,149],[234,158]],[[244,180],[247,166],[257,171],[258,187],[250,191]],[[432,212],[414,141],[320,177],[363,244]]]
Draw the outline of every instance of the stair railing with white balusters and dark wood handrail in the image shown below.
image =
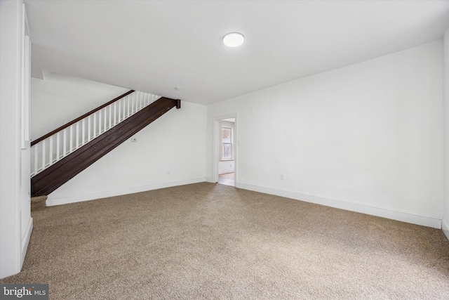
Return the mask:
[[128,91],[32,141],[31,177],[97,138],[161,96]]

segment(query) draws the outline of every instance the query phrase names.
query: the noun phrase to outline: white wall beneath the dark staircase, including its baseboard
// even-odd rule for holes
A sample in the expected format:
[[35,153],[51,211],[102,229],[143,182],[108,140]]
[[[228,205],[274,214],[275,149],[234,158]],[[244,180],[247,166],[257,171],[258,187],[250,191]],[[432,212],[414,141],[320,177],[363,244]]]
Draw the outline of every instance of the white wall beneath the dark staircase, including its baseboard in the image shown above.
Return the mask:
[[182,103],[48,196],[47,205],[205,181],[206,106]]

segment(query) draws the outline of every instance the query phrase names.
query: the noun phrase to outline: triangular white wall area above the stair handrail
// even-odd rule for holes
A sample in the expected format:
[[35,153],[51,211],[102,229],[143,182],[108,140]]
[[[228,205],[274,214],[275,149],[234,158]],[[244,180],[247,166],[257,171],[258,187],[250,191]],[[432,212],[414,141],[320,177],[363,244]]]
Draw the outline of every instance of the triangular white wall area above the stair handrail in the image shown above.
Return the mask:
[[129,90],[57,73],[32,78],[31,138],[40,138]]

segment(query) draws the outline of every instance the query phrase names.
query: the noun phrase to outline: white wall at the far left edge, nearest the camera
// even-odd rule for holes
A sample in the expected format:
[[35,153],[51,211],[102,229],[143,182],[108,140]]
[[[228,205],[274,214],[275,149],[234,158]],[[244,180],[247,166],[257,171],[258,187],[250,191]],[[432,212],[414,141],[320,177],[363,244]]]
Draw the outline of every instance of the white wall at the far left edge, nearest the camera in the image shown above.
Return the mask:
[[33,226],[29,141],[22,149],[24,12],[22,1],[0,1],[0,278],[20,272]]

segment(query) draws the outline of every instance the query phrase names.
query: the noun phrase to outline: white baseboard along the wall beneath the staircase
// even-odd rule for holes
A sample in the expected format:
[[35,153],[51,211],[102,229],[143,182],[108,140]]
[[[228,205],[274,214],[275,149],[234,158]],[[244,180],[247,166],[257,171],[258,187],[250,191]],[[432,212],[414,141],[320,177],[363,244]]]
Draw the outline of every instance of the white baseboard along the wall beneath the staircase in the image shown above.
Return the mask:
[[140,192],[145,192],[147,190],[157,190],[159,188],[170,188],[172,186],[186,185],[186,184],[191,184],[191,183],[199,183],[199,182],[204,182],[204,181],[206,181],[205,178],[195,178],[195,179],[189,179],[189,180],[185,180],[185,181],[168,181],[168,182],[156,183],[156,184],[152,184],[152,185],[143,185],[143,186],[138,186],[138,187],[133,187],[133,188],[122,188],[119,190],[107,190],[104,192],[89,193],[89,194],[82,194],[82,195],[71,195],[71,196],[67,196],[67,197],[52,197],[50,194],[50,195],[48,195],[46,204],[48,207],[51,207],[54,205],[68,204],[68,203],[74,203],[74,202],[83,202],[83,201],[95,200],[95,199],[100,199],[100,198],[140,193]]

